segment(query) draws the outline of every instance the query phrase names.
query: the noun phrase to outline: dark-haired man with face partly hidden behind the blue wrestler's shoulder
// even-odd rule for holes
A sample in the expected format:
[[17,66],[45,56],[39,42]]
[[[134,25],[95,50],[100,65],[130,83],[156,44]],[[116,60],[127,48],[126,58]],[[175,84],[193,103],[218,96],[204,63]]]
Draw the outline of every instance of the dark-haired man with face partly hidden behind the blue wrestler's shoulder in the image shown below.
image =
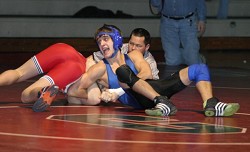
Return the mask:
[[[134,50],[140,51],[150,65],[153,79],[157,80],[159,79],[159,70],[153,55],[149,52],[150,44],[150,33],[144,28],[135,28],[129,36],[129,42],[122,45],[121,53],[127,54]],[[93,55],[96,62],[104,58],[101,51],[94,52]]]

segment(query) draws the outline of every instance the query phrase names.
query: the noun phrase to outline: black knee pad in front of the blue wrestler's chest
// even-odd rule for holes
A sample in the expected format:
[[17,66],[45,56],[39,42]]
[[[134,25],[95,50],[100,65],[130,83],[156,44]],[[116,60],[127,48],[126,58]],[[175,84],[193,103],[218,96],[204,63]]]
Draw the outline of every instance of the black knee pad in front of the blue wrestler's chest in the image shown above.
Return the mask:
[[130,88],[139,80],[128,65],[122,65],[116,69],[116,75],[120,82],[126,83]]

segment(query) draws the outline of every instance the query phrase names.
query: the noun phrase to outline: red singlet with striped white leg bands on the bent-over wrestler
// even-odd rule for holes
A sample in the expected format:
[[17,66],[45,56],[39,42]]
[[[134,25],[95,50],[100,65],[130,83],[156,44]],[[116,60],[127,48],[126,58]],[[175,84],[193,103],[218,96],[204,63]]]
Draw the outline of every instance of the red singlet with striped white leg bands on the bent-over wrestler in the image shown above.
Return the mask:
[[47,79],[51,85],[57,85],[60,90],[65,90],[86,70],[86,58],[64,43],[48,47],[32,57],[32,60],[38,73],[46,74],[42,78]]

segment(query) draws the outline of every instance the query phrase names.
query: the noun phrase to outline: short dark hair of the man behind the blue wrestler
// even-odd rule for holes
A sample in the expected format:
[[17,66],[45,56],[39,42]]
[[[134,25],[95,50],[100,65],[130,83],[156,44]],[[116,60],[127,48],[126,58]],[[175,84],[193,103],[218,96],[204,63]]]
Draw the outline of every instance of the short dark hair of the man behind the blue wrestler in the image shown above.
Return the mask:
[[138,36],[138,37],[145,37],[145,40],[144,40],[144,43],[145,45],[147,44],[151,44],[151,36],[150,36],[150,33],[144,29],[144,28],[135,28],[130,36],[129,36],[129,39],[131,39],[132,35],[134,36]]

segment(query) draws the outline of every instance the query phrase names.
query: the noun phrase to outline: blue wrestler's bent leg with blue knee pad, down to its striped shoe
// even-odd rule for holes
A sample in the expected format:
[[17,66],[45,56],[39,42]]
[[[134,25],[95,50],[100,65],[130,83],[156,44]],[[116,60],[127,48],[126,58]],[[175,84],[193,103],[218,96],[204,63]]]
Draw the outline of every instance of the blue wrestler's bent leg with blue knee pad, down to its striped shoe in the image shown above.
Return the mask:
[[185,85],[192,81],[202,97],[206,116],[231,116],[240,108],[238,103],[223,103],[213,96],[212,84],[208,67],[205,64],[194,64],[180,71],[180,77]]

